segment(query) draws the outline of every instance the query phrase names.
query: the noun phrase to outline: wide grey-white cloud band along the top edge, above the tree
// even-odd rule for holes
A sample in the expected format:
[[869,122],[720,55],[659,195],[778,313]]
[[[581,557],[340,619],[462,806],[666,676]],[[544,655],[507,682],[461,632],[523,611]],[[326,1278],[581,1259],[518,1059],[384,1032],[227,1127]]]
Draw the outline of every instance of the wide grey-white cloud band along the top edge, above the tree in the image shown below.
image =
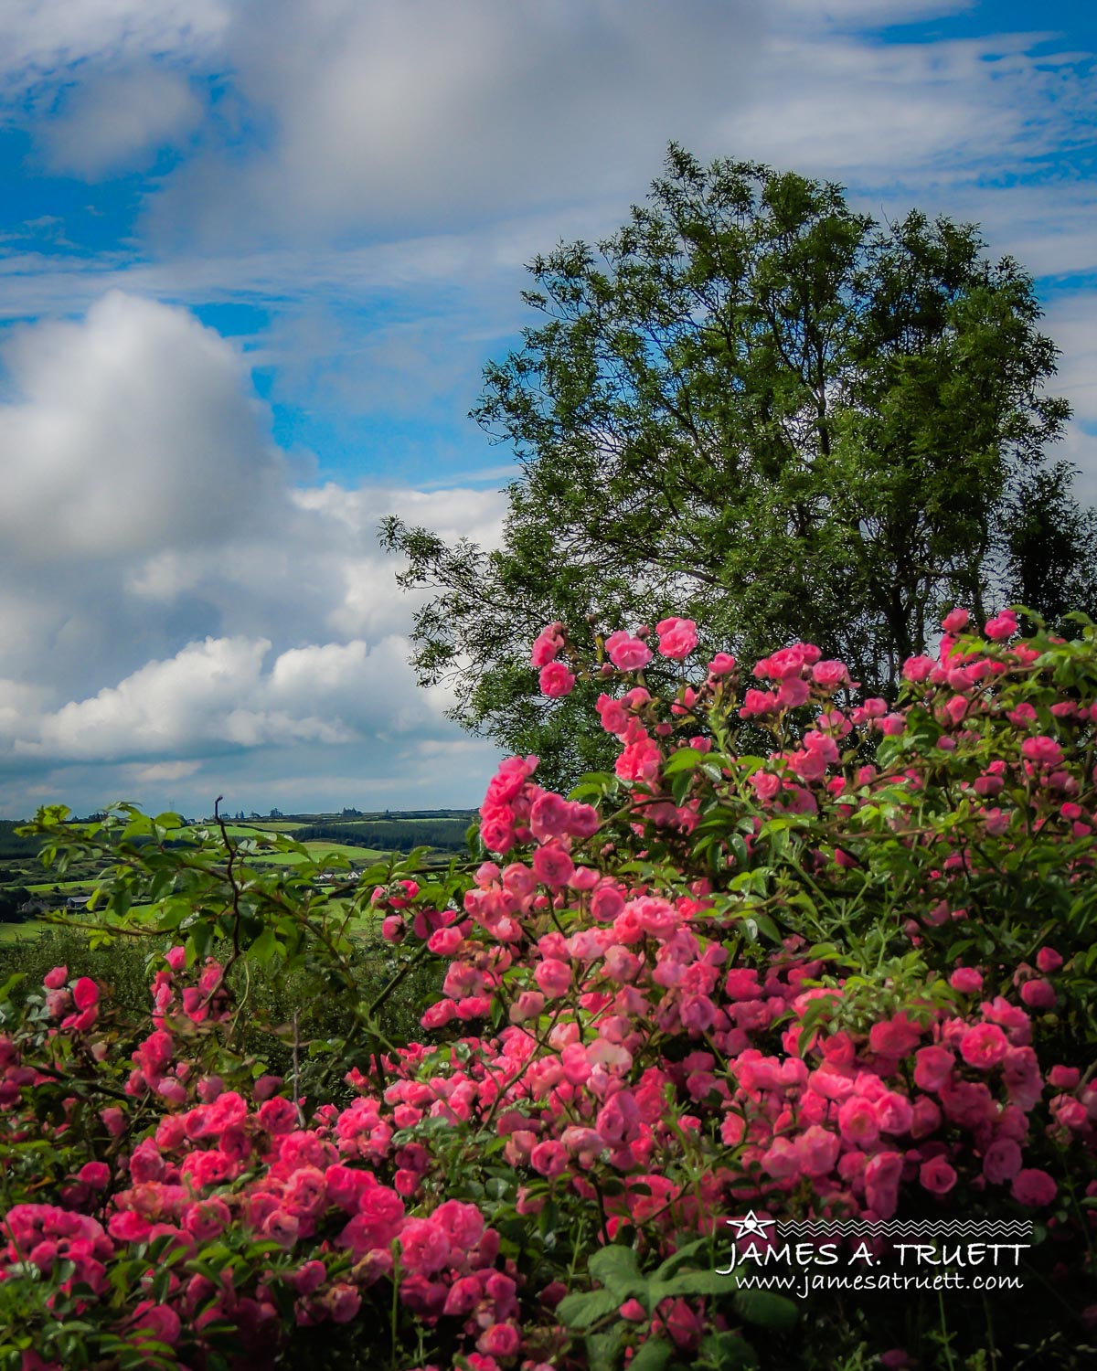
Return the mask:
[[[152,202],[163,241],[354,245],[635,196],[669,137],[873,186],[997,174],[1092,123],[1048,34],[889,41],[909,0],[266,0],[225,51],[262,149],[204,151]],[[1037,52],[1037,47],[1039,51]]]

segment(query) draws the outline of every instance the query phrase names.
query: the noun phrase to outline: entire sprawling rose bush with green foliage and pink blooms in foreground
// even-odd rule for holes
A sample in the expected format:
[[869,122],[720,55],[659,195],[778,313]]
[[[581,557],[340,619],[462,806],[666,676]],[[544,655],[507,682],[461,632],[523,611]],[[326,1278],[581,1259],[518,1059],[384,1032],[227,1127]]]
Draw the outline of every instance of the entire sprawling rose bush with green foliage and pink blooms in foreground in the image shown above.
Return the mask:
[[[969,628],[887,702],[806,643],[554,624],[542,690],[603,680],[616,772],[565,798],[507,758],[468,871],[329,908],[228,839],[128,849],[103,930],[178,936],[148,1021],[56,968],[0,1036],[0,1364],[1085,1366],[1097,643]],[[355,930],[392,987],[436,968],[417,1041],[355,1004]],[[234,1050],[248,957],[347,994],[292,1079]],[[747,1208],[1035,1238],[997,1304],[794,1304],[717,1271]]]

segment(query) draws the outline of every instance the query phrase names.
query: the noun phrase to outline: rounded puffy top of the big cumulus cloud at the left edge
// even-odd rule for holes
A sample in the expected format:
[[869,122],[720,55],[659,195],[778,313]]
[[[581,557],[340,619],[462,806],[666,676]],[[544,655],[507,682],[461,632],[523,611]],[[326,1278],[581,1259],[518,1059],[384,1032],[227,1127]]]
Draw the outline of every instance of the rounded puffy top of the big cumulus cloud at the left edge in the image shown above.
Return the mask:
[[80,324],[18,330],[4,359],[5,558],[217,543],[276,492],[240,358],[181,310],[115,292]]

